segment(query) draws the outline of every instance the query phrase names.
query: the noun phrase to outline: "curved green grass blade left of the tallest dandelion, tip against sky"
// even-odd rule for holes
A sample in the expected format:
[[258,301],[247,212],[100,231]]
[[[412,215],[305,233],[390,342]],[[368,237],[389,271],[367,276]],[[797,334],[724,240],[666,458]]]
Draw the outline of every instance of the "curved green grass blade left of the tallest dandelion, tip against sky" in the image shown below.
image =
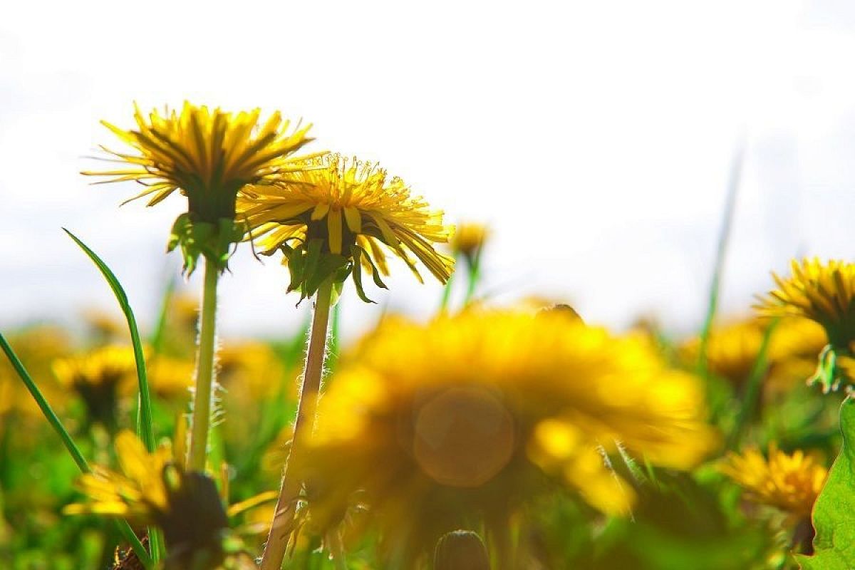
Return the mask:
[[[148,375],[145,370],[145,356],[143,352],[143,343],[139,338],[139,327],[137,326],[137,319],[133,315],[133,309],[131,309],[131,303],[127,300],[127,293],[122,288],[121,283],[119,283],[119,279],[116,279],[115,273],[110,270],[104,261],[97,256],[97,254],[92,251],[89,246],[80,241],[80,238],[74,235],[74,233],[69,232],[66,228],[62,228],[63,232],[68,233],[68,237],[74,240],[75,244],[80,246],[80,249],[83,250],[86,256],[89,256],[89,259],[97,266],[98,270],[103,275],[103,278],[106,279],[110,289],[113,290],[116,300],[119,302],[119,306],[121,307],[121,312],[125,314],[125,319],[127,320],[127,328],[131,332],[131,343],[133,344],[133,358],[136,361],[137,365],[137,380],[139,383],[139,409],[137,415],[137,432],[139,437],[143,440],[143,444],[145,448],[149,450],[150,453],[155,451],[155,436],[154,436],[154,426],[153,420],[151,419],[151,393],[149,389],[149,380]],[[160,554],[163,550],[163,544],[160,537],[159,532],[155,528],[149,529],[149,541],[151,547],[151,556],[154,561],[160,561]]]

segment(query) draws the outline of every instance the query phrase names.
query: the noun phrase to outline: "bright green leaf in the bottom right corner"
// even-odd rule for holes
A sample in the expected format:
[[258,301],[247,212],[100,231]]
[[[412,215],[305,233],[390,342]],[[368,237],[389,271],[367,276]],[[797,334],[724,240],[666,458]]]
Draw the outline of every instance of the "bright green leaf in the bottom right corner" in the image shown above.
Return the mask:
[[802,570],[855,568],[855,400],[840,406],[843,447],[813,507],[815,554],[797,556]]

